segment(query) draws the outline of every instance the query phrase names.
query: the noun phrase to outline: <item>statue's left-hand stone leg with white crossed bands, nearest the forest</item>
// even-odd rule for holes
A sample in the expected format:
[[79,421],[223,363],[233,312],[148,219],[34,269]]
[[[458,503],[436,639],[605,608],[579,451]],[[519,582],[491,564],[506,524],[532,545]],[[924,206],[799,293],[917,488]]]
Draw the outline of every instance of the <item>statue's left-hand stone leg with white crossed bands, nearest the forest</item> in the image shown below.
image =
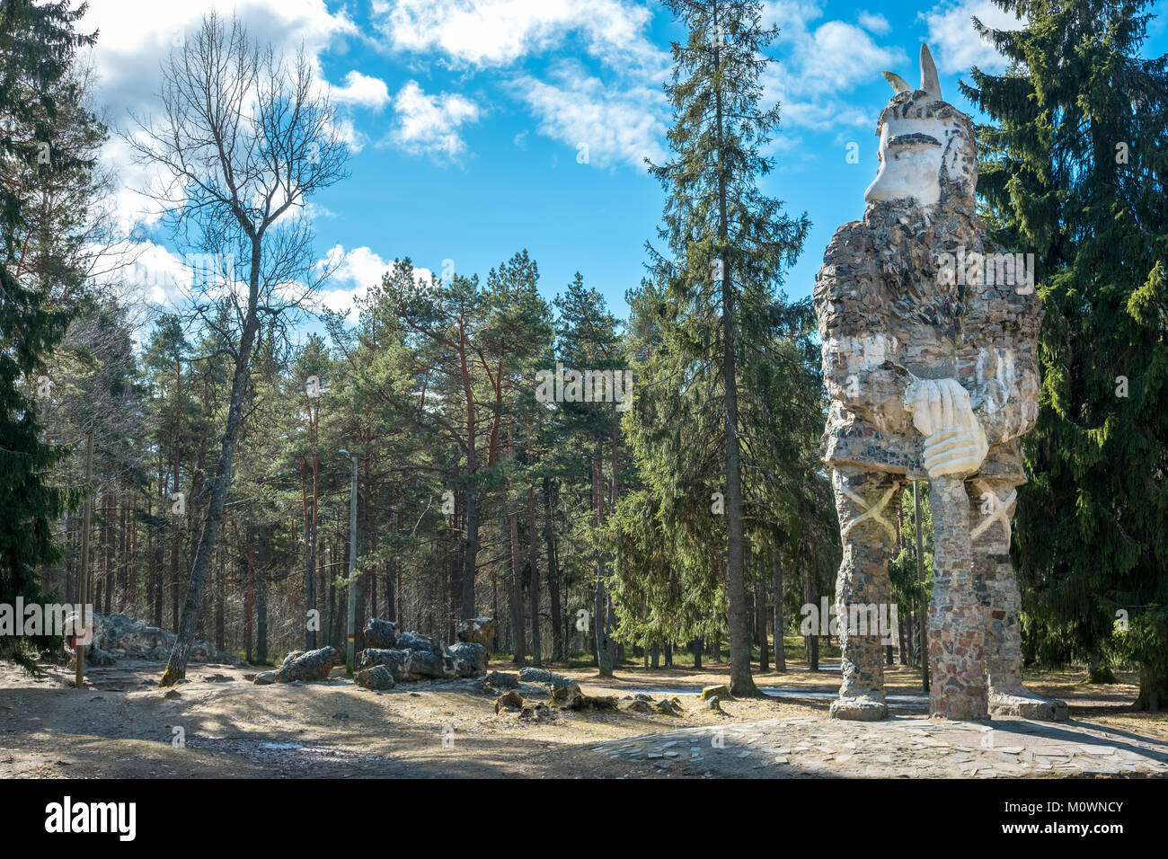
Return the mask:
[[[891,600],[888,560],[896,541],[891,512],[899,482],[892,474],[850,465],[836,467],[832,479],[843,542],[843,561],[835,586],[843,681],[830,712],[833,719],[875,721],[888,716],[887,636],[871,628],[869,607],[876,607],[876,616],[884,617],[880,607],[887,607]],[[862,618],[863,623],[848,629],[849,618]]]

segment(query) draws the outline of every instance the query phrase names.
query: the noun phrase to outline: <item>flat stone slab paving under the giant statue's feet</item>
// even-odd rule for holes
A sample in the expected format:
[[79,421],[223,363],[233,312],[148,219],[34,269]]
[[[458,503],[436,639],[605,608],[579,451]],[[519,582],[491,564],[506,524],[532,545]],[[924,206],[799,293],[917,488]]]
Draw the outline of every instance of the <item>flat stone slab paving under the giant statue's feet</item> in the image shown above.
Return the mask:
[[1082,721],[802,716],[645,734],[592,751],[679,776],[1168,776],[1168,742]]

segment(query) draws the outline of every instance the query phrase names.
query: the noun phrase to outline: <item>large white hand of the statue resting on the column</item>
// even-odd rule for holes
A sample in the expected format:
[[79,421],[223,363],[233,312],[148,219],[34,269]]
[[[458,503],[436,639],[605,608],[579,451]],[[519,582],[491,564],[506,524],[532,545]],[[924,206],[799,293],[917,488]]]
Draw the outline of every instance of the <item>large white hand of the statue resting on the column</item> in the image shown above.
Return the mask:
[[925,436],[929,477],[972,474],[989,452],[986,434],[955,379],[918,379],[904,393],[912,425]]

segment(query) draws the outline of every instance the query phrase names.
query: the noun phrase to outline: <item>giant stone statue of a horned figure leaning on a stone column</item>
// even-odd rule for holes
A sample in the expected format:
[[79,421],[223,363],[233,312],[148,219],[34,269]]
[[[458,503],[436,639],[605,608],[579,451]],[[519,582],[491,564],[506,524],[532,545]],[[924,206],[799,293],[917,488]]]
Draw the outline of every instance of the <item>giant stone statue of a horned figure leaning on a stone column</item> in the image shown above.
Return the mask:
[[[880,171],[863,221],[846,223],[815,279],[832,470],[843,562],[836,584],[843,681],[835,719],[888,715],[888,630],[857,619],[891,600],[896,498],[930,482],[930,713],[1065,719],[1022,685],[1020,595],[1010,566],[1018,438],[1037,417],[1042,306],[1018,255],[976,217],[969,117],[941,99],[929,48],[920,88],[884,72]],[[1033,256],[1030,257],[1033,259]],[[870,612],[867,614],[867,612]],[[883,633],[883,635],[882,635]]]

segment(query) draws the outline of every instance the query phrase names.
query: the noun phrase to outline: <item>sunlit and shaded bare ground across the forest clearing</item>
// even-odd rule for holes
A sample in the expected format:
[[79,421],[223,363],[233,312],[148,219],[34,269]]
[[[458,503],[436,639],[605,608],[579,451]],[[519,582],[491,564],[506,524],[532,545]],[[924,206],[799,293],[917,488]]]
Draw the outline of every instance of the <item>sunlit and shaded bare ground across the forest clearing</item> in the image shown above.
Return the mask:
[[723,701],[719,714],[695,693],[725,683],[726,667],[626,665],[603,681],[591,669],[556,669],[590,694],[677,695],[686,713],[524,720],[496,715],[494,699],[465,681],[375,693],[334,669],[319,683],[256,686],[244,679],[255,669],[192,665],[190,683],[165,691],[161,664],[119,660],[91,669],[77,691],[64,669],[34,679],[0,663],[0,778],[1168,775],[1168,718],[1131,711],[1129,674],[1107,686],[1078,672],[1028,676],[1034,691],[1068,702],[1068,722],[958,723],[929,720],[916,670],[891,666],[891,718],[861,723],[827,718],[839,663],[756,674],[772,695]]

